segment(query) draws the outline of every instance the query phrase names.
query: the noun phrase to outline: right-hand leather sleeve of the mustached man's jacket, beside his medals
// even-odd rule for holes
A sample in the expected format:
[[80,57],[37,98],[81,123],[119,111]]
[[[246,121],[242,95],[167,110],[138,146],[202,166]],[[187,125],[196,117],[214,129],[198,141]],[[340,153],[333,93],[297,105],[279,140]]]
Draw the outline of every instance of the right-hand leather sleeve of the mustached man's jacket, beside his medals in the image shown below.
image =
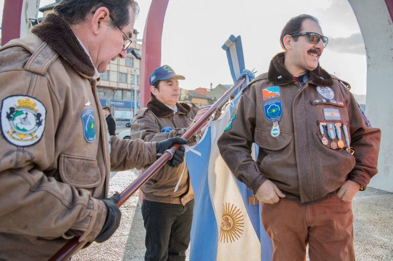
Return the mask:
[[364,188],[370,179],[378,173],[378,154],[381,143],[381,130],[367,127],[358,103],[348,91],[346,100],[350,118],[351,147],[355,151],[356,164],[347,179],[353,180]]

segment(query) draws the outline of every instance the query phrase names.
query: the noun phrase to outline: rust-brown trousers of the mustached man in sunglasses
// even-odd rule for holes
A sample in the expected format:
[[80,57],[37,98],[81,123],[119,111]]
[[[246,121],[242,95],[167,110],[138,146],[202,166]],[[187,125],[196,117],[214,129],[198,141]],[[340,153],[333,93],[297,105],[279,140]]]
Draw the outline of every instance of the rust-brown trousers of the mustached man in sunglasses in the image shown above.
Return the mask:
[[334,194],[311,205],[280,199],[263,204],[262,222],[273,243],[273,261],[355,260],[352,203]]

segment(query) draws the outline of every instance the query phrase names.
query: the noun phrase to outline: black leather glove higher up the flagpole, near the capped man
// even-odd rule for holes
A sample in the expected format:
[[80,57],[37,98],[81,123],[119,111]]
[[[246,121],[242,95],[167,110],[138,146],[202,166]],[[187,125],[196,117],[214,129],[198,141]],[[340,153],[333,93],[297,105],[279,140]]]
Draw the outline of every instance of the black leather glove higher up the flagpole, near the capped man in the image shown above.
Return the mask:
[[[188,141],[187,139],[181,138],[181,137],[174,137],[174,138],[168,138],[163,141],[159,141],[156,145],[156,151],[157,151],[157,158],[161,157],[162,154],[167,149],[170,149],[173,145],[175,144],[187,144]],[[185,155],[185,149],[184,147],[180,147],[173,155],[173,157],[168,160],[166,163],[170,167],[179,167],[179,165],[184,161],[184,155]]]

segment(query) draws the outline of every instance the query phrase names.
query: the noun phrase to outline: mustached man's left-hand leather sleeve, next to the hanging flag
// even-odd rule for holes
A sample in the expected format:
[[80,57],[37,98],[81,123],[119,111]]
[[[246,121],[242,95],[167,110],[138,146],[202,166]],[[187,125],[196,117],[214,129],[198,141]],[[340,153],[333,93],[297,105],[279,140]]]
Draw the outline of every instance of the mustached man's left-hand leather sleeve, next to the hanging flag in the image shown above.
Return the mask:
[[266,177],[251,157],[256,106],[254,99],[249,98],[249,93],[250,91],[247,90],[239,100],[232,128],[224,131],[217,145],[231,172],[255,194]]

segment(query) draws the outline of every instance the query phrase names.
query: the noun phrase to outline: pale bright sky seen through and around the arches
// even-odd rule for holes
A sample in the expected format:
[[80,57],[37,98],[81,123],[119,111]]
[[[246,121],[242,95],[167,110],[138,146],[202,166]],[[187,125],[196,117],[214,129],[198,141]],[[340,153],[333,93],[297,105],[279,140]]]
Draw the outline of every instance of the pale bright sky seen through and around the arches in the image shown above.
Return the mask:
[[[137,1],[138,2],[138,1]],[[41,0],[40,6],[54,3]],[[140,0],[135,29],[143,37],[151,0]],[[4,0],[0,0],[3,9]],[[162,36],[161,64],[170,65],[186,80],[186,89],[230,84],[223,43],[241,35],[246,68],[266,73],[271,58],[281,52],[282,27],[293,16],[311,14],[318,18],[329,37],[320,65],[351,84],[351,91],[366,94],[366,56],[363,38],[350,4],[345,0],[170,0]],[[1,15],[3,10],[1,10]]]

